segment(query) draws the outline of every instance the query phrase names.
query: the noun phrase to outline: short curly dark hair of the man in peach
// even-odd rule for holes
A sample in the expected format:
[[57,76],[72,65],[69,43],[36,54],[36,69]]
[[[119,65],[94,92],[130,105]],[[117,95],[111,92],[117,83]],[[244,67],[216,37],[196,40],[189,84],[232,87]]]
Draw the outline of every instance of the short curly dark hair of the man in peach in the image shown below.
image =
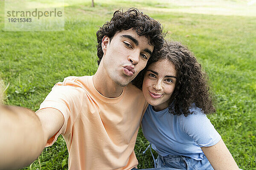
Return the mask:
[[139,36],[145,36],[148,39],[148,44],[154,46],[152,56],[159,54],[163,47],[164,36],[163,26],[153,18],[149,17],[137,8],[129,8],[123,12],[117,10],[109,22],[106,22],[96,33],[97,36],[97,55],[99,57],[98,65],[103,57],[102,38],[107,36],[112,40],[116,32],[128,30],[132,28]]

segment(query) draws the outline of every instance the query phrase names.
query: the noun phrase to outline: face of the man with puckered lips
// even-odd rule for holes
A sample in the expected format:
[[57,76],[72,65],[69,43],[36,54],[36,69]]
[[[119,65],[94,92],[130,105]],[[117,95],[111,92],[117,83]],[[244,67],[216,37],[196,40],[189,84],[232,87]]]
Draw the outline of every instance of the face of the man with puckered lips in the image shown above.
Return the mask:
[[139,36],[132,29],[122,30],[111,42],[109,37],[103,38],[101,64],[113,82],[123,87],[145,67],[153,49],[145,36]]

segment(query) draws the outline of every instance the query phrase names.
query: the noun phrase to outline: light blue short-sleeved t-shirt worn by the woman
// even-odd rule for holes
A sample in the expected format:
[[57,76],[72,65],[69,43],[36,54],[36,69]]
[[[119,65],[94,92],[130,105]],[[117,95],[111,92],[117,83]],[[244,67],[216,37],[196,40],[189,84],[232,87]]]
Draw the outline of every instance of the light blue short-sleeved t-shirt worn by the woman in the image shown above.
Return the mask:
[[201,147],[213,146],[221,140],[200,108],[192,105],[190,111],[195,113],[187,117],[177,116],[169,113],[168,108],[156,112],[148,105],[142,120],[142,130],[160,156],[188,156],[202,160],[204,153]]

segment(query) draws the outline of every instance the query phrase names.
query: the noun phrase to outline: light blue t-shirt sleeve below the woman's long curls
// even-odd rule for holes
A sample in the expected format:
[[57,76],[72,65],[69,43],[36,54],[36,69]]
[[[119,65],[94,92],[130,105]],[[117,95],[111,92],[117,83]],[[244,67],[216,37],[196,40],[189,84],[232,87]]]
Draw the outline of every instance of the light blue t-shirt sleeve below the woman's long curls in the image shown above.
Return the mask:
[[195,113],[189,114],[187,117],[180,116],[180,124],[184,132],[194,139],[199,147],[210,147],[217,144],[221,140],[221,136],[207,116],[197,107],[190,111]]

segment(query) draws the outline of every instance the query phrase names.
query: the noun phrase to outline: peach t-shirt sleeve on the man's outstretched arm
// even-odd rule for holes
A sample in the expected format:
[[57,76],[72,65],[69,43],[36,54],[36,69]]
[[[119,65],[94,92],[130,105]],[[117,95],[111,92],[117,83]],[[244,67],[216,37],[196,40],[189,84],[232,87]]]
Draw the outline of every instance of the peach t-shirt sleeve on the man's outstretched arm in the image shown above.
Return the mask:
[[64,117],[63,125],[47,141],[45,147],[52,146],[60,134],[70,133],[72,125],[81,111],[83,94],[83,90],[80,87],[64,85],[64,83],[58,82],[47,95],[44,102],[41,103],[39,110],[54,108]]

